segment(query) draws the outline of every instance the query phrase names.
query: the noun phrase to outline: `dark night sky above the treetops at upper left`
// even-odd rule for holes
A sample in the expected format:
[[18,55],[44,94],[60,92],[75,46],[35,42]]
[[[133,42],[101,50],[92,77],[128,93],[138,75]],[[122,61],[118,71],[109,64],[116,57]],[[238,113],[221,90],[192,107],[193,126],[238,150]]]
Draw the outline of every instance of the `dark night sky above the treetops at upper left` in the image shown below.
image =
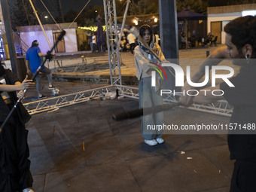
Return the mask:
[[[61,0],[63,14],[65,15],[71,9],[80,12],[88,1],[89,0]],[[57,11],[57,0],[42,0],[42,2],[44,2],[44,4],[50,12]],[[41,11],[46,11],[44,5],[42,5],[41,3],[41,0],[35,0],[35,5]],[[89,8],[90,5],[103,6],[103,0],[90,0],[90,3],[87,5],[87,8]]]

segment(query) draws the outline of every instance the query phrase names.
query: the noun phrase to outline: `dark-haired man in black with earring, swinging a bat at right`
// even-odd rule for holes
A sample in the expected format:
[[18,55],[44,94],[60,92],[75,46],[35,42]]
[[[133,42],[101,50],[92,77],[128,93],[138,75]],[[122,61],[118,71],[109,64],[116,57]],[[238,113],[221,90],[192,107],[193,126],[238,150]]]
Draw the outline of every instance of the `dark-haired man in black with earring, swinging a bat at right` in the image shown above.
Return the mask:
[[224,31],[227,53],[234,65],[241,66],[239,74],[229,79],[234,87],[221,83],[206,90],[223,90],[223,96],[205,96],[202,91],[193,99],[181,96],[180,102],[189,105],[191,100],[210,103],[226,99],[233,105],[230,123],[237,123],[242,129],[230,130],[227,136],[230,159],[236,160],[230,192],[252,192],[256,191],[256,18],[239,17],[228,23]]

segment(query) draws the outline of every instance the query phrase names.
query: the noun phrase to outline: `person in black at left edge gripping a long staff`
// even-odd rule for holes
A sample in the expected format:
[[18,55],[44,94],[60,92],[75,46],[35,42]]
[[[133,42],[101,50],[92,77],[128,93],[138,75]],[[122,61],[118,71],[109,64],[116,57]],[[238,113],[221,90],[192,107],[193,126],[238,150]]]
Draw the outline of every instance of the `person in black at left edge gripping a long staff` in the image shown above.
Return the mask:
[[[1,62],[0,62],[1,63]],[[30,87],[31,81],[22,83],[11,70],[0,64],[0,126],[5,121],[18,98],[23,98],[24,89]],[[16,91],[21,90],[18,94]],[[0,191],[32,192],[32,175],[29,171],[29,148],[27,145],[28,130],[25,123],[30,115],[19,103],[14,114],[0,130]]]

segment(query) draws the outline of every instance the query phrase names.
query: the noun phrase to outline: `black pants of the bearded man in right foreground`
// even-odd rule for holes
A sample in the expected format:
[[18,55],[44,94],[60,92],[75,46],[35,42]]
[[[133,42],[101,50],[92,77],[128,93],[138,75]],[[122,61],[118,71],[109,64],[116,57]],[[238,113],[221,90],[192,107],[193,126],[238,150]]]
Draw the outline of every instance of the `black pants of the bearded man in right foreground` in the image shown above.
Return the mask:
[[256,162],[236,160],[231,179],[230,192],[256,191]]

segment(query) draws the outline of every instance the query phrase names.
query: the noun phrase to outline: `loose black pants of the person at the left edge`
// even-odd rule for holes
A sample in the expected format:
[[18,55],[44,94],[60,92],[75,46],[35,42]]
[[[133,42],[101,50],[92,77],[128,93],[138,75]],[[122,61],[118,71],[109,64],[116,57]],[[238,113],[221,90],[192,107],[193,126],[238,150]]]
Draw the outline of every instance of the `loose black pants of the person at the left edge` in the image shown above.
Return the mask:
[[14,112],[14,122],[7,123],[0,136],[0,191],[32,187],[27,135],[28,131]]

